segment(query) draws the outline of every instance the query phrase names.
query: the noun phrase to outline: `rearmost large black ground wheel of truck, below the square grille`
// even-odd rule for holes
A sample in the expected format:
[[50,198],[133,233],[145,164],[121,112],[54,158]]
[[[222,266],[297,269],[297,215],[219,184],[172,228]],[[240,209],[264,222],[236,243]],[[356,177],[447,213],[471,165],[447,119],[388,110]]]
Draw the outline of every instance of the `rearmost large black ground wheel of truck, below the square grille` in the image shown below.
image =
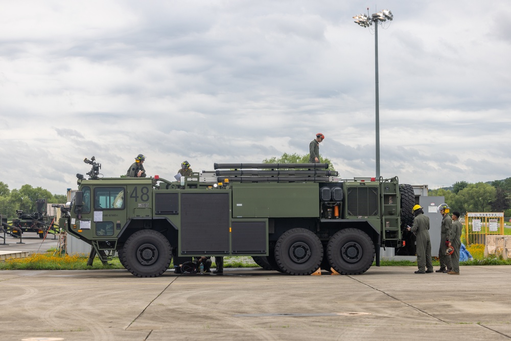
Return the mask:
[[375,259],[375,244],[363,231],[345,229],[336,232],[327,245],[330,264],[341,275],[360,275]]

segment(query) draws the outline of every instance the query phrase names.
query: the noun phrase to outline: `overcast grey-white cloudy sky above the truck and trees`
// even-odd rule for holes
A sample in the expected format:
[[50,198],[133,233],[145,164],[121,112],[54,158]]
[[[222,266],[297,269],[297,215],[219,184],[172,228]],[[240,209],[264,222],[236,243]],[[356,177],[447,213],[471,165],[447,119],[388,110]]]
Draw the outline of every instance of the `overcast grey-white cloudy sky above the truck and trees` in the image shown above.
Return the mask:
[[[381,6],[381,7],[380,7]],[[96,156],[149,175],[187,160],[320,153],[375,176],[450,186],[511,176],[511,2],[0,0],[0,181],[65,194]]]

